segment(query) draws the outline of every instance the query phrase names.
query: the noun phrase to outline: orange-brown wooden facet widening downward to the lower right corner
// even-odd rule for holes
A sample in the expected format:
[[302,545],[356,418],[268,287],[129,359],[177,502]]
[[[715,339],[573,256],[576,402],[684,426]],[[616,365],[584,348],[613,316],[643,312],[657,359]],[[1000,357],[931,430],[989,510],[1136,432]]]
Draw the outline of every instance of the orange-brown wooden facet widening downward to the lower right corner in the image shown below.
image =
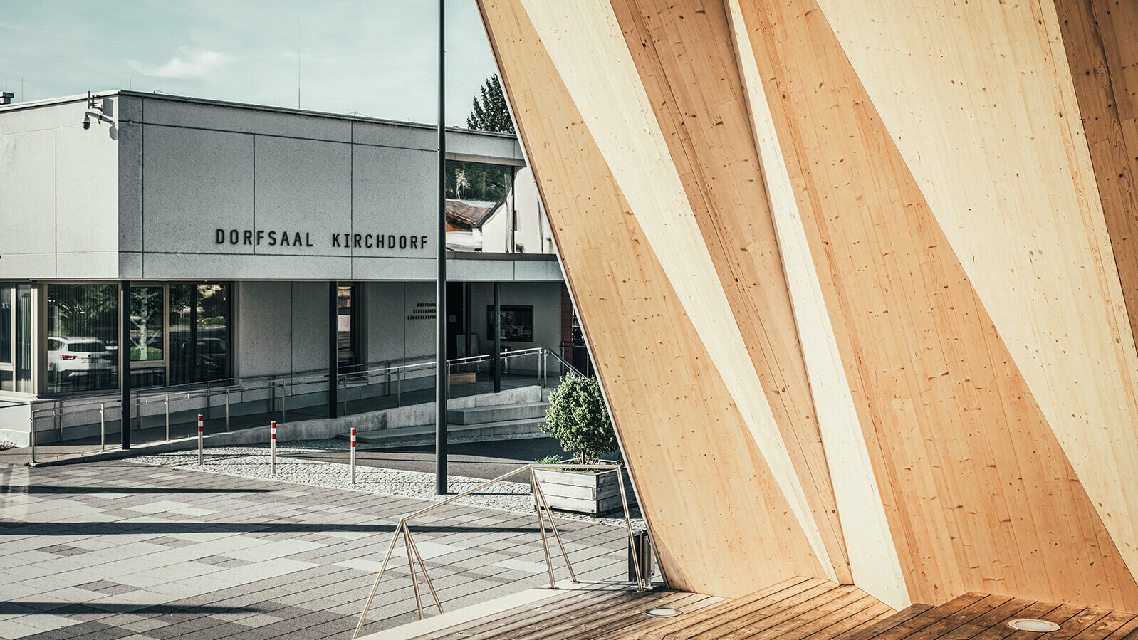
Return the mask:
[[913,600],[1133,609],[1138,585],[824,13],[742,13]]

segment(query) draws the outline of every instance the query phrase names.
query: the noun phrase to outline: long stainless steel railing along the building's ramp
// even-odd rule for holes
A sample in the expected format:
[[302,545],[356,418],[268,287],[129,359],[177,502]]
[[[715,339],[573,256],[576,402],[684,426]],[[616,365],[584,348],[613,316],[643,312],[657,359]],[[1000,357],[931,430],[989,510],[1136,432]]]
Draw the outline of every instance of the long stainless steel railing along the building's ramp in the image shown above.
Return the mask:
[[[337,376],[336,384],[338,390],[341,391],[339,398],[344,415],[349,414],[349,402],[352,401],[351,390],[360,390],[362,393],[362,390],[366,388],[376,388],[376,392],[372,396],[361,397],[357,394],[357,400],[394,397],[396,407],[404,406],[404,388],[406,383],[428,379],[434,372],[434,359],[424,358],[424,356],[406,358],[403,360],[404,364],[399,365],[390,364],[397,360],[389,360],[386,366],[362,365],[353,367],[353,371],[340,373]],[[451,381],[461,377],[463,373],[488,373],[492,361],[493,356],[490,355],[447,360],[448,388],[452,385]],[[528,366],[530,363],[533,366]],[[382,363],[380,364],[382,365]],[[525,372],[526,376],[533,375],[534,383],[542,387],[549,385],[551,372],[554,375],[554,380],[569,373],[580,375],[580,372],[571,364],[562,359],[556,352],[544,347],[502,354],[501,366],[506,372],[518,371]],[[262,413],[277,414],[279,412],[280,422],[283,423],[288,418],[290,397],[324,393],[328,391],[328,372],[314,369],[288,375],[248,376],[201,384],[164,387],[149,392],[139,391],[135,393],[131,399],[130,413],[132,419],[139,421],[146,418],[149,422],[157,421],[159,425],[164,424],[165,440],[170,441],[172,413],[176,414],[181,410],[182,413],[189,412],[192,415],[196,412],[203,412],[206,415],[206,419],[213,421],[214,409],[220,410],[223,406],[225,431],[230,431],[234,406],[244,406],[249,402],[265,402],[267,412]],[[217,401],[215,402],[215,400]],[[32,462],[35,462],[38,455],[36,424],[42,423],[44,419],[51,421],[52,429],[58,431],[58,440],[64,441],[66,421],[71,419],[75,423],[76,417],[88,415],[90,417],[83,419],[90,419],[90,422],[81,422],[81,424],[90,425],[94,424],[94,416],[97,415],[100,440],[99,450],[106,450],[106,423],[108,419],[121,419],[121,417],[115,418],[113,415],[114,413],[121,415],[121,399],[102,397],[92,398],[86,401],[52,400],[52,402],[53,406],[51,407],[32,409],[30,412],[31,424],[28,426],[31,430]],[[182,405],[181,409],[176,407],[178,404]],[[157,405],[162,406],[158,412],[150,410],[151,407]],[[108,412],[112,415],[108,415]]]

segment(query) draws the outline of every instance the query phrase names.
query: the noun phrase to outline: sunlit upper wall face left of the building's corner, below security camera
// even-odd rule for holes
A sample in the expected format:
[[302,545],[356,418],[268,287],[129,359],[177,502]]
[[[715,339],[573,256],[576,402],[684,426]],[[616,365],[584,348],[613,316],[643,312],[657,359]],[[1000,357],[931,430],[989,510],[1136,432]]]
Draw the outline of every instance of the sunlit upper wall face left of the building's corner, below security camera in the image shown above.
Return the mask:
[[[98,103],[115,116],[117,98]],[[84,97],[0,117],[0,279],[117,275],[119,128],[84,130],[85,113]]]

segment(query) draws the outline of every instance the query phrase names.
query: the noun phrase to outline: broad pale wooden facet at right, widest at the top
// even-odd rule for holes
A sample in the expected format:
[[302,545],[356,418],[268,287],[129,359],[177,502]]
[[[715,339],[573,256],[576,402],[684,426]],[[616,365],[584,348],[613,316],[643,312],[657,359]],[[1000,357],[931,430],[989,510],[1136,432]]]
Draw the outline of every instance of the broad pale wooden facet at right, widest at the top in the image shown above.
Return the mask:
[[[1096,185],[1082,120],[1104,120],[1079,117],[1065,53],[1086,51],[1090,17],[1067,11],[1061,20],[1052,0],[819,0],[818,8],[1123,559],[1138,571],[1138,483],[1125,471],[1138,468],[1138,351],[1123,297],[1138,277],[1125,247],[1135,191],[1128,178],[1104,180],[1131,171],[1113,167],[1121,144],[1113,173],[1099,171]],[[1132,41],[1136,10],[1133,2],[1102,2],[1095,17],[1104,20],[1104,42],[1120,42],[1115,30]],[[1061,27],[1083,34],[1065,42]],[[1112,50],[1121,60],[1127,44]],[[1074,76],[1086,80],[1086,70]],[[1113,102],[1124,110],[1128,100]],[[1092,146],[1102,146],[1103,132],[1095,135]],[[1122,142],[1121,124],[1116,135]],[[1106,219],[1096,194],[1104,188],[1113,209]],[[1112,236],[1122,244],[1118,259]]]

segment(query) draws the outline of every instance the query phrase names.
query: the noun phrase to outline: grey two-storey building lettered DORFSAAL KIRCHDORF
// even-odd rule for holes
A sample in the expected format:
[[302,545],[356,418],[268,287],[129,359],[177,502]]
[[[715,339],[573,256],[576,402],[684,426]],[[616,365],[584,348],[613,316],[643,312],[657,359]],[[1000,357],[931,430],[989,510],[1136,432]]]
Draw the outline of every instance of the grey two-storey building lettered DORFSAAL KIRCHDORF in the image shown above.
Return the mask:
[[[447,238],[448,358],[493,348],[495,289],[504,349],[560,350],[571,313],[517,139],[452,130],[447,151],[448,210],[473,211]],[[130,91],[0,107],[0,438],[117,398],[124,343],[141,394],[327,388],[332,344],[341,375],[434,359],[436,157],[432,126],[354,116]],[[327,404],[315,387],[291,406]],[[66,419],[41,441],[91,433]]]

